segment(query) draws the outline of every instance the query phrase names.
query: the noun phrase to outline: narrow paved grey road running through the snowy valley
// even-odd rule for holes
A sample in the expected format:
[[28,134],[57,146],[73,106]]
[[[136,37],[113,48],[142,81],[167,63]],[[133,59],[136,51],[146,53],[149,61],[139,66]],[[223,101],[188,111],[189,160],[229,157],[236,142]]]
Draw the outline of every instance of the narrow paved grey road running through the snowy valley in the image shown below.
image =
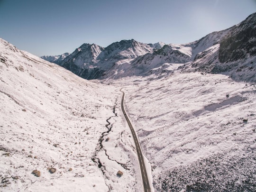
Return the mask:
[[122,102],[121,102],[121,108],[122,108],[122,111],[124,113],[125,119],[126,119],[128,125],[129,125],[129,128],[131,129],[132,137],[133,137],[134,142],[135,142],[135,146],[136,146],[136,150],[137,150],[137,154],[138,154],[140,171],[141,171],[141,175],[142,175],[142,181],[143,181],[143,185],[144,185],[144,191],[145,192],[150,192],[150,184],[148,182],[148,178],[147,178],[147,174],[146,174],[146,167],[145,167],[142,151],[141,151],[141,148],[140,148],[140,145],[139,145],[139,142],[138,142],[138,138],[136,136],[134,128],[132,127],[132,124],[131,124],[131,122],[130,122],[130,120],[129,120],[126,112],[125,112],[125,109],[124,109],[124,96],[125,96],[125,93],[124,93],[124,91],[122,91],[122,89],[120,89],[120,91],[123,93]]

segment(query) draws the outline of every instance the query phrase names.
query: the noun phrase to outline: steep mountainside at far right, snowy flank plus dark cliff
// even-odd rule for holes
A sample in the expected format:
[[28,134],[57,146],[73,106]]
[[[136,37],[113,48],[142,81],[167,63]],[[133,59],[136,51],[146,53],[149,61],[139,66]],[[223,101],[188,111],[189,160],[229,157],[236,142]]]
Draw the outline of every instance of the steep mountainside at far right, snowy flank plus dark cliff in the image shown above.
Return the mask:
[[256,82],[256,13],[232,27],[218,44],[197,54],[184,71],[222,73],[237,81]]

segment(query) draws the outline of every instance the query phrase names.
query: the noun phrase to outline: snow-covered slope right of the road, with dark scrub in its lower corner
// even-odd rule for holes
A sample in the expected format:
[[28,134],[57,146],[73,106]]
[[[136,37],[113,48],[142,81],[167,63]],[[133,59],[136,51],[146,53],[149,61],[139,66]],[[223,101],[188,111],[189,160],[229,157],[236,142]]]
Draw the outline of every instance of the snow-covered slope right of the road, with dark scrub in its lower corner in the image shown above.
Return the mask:
[[125,86],[155,191],[256,190],[256,83],[179,70],[111,83]]

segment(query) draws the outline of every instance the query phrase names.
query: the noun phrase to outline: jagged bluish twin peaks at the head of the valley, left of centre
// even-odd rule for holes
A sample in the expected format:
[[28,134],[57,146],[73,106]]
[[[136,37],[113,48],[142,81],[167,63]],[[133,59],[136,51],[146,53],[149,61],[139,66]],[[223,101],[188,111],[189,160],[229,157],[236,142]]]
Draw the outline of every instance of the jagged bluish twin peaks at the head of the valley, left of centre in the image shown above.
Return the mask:
[[134,39],[115,42],[106,48],[83,44],[59,64],[85,79],[97,79],[115,64],[130,62],[152,52],[153,47]]

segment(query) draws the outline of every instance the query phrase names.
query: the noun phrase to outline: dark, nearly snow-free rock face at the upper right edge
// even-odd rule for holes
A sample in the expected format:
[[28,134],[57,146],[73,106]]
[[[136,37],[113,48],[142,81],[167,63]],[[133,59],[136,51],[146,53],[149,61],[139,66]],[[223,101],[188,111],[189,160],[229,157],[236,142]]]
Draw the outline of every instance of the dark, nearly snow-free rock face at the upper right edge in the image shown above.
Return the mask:
[[244,59],[256,55],[256,13],[234,27],[220,41],[219,61],[221,63]]

